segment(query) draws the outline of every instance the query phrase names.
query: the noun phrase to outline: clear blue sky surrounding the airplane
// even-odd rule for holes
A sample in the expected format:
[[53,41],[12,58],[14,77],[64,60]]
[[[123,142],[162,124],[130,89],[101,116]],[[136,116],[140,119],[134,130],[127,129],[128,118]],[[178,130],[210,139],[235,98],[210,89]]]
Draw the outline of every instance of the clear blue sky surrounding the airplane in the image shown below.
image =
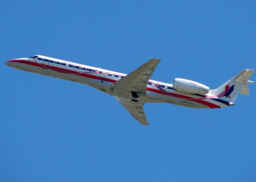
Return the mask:
[[[255,1],[2,1],[1,182],[255,182],[256,85],[236,106],[146,104],[150,127],[89,86],[7,67],[47,55],[216,88],[256,68]],[[256,80],[256,73],[251,80]]]

